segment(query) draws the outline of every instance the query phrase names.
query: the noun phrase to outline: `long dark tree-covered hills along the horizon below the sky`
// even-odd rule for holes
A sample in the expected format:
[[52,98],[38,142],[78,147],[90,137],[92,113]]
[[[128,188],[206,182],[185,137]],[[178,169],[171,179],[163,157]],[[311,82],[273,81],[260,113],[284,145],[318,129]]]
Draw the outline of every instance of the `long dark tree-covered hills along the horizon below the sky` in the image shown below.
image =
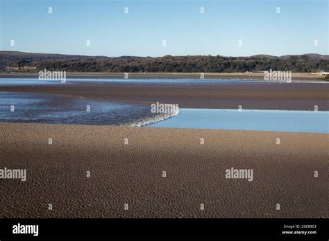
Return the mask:
[[163,57],[106,57],[61,55],[51,53],[24,53],[0,51],[0,71],[37,72],[48,69],[69,72],[176,72],[223,73],[245,71],[329,71],[329,55],[253,55],[224,57],[221,55],[187,55]]

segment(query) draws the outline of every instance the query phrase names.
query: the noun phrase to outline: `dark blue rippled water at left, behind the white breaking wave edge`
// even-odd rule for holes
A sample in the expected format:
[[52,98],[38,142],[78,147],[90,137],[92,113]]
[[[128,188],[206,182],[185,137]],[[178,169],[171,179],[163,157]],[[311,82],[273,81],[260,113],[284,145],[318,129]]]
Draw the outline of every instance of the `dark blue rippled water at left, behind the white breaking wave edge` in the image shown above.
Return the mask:
[[[90,111],[87,111],[87,105]],[[15,111],[10,111],[11,107]],[[42,93],[0,92],[0,122],[130,125],[158,118],[149,105],[77,99]],[[141,125],[142,125],[141,124]]]

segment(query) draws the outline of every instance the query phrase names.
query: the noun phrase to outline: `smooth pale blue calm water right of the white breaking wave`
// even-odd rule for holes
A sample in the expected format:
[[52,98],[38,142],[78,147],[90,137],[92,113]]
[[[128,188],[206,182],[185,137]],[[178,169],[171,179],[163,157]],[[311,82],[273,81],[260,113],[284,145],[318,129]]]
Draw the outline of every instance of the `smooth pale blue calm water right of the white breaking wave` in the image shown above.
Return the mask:
[[180,109],[148,127],[328,133],[329,111]]

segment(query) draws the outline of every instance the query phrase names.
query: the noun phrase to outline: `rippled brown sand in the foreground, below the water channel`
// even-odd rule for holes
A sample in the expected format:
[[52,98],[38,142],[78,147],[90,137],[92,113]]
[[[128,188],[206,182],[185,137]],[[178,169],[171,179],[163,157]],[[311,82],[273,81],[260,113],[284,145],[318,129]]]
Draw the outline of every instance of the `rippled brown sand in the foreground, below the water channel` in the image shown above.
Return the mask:
[[[26,181],[0,179],[0,217],[328,218],[328,143],[328,134],[0,123],[0,168],[27,170]],[[226,179],[232,167],[253,169],[253,181]]]

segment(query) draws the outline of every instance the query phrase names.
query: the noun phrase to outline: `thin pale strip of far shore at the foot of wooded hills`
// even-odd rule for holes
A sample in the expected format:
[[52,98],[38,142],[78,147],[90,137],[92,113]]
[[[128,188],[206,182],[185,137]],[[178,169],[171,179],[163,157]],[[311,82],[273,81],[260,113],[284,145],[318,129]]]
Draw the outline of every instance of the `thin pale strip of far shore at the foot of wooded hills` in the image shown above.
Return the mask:
[[[0,73],[0,78],[37,78],[37,73]],[[67,78],[124,79],[124,73],[67,73]],[[201,73],[128,73],[130,79],[201,79]],[[264,73],[204,73],[204,79],[264,80]],[[329,81],[317,73],[292,73],[292,80]]]

